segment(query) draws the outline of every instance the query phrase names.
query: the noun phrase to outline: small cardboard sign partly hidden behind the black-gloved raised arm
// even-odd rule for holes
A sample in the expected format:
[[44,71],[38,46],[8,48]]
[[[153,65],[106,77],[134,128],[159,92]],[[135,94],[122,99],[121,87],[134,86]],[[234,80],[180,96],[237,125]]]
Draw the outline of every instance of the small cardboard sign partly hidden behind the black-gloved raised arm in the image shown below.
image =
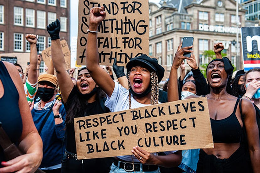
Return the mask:
[[[67,41],[61,40],[61,46],[62,46],[62,52],[66,63],[66,70],[68,70],[70,69],[70,50]],[[43,50],[41,52],[41,56],[43,61],[45,62],[45,65],[48,67],[51,59],[51,47],[48,47],[47,49]]]

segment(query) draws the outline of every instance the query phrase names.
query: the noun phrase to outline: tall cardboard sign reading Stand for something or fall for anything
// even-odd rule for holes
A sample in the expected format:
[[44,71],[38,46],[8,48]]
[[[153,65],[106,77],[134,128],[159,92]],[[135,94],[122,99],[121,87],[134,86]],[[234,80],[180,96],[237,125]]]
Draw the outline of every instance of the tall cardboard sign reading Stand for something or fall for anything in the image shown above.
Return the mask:
[[104,6],[106,18],[100,23],[97,34],[100,65],[118,66],[134,57],[149,53],[148,0],[79,0],[79,30],[77,64],[86,65],[89,10]]

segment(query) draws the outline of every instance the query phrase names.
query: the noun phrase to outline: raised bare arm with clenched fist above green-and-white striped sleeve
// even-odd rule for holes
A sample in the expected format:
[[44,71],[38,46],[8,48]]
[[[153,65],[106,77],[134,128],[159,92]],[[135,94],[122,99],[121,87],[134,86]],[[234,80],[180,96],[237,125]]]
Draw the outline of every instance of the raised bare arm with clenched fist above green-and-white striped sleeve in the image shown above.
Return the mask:
[[37,37],[35,34],[26,34],[25,38],[30,43],[30,68],[28,71],[28,81],[35,84],[38,79],[37,75]]

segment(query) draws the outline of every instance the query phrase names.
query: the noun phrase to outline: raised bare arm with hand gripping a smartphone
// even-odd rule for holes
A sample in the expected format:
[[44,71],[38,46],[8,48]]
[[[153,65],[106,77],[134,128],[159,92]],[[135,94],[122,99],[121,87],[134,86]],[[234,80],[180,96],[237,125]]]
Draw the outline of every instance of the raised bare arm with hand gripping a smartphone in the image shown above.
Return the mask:
[[181,63],[184,59],[190,60],[190,57],[183,56],[185,52],[193,52],[193,50],[189,50],[192,46],[183,47],[179,45],[178,50],[174,56],[173,63],[171,66],[171,72],[169,77],[169,84],[168,84],[168,101],[173,102],[179,100],[179,93],[178,93],[178,81],[177,81],[177,69],[181,66]]

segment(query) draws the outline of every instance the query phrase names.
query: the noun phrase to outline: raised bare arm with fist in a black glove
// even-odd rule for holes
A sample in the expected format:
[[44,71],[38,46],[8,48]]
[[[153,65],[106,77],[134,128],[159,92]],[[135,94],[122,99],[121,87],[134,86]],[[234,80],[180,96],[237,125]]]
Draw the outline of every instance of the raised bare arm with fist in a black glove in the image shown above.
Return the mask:
[[57,72],[62,99],[64,103],[66,103],[74,84],[66,71],[65,59],[62,53],[61,40],[59,37],[60,29],[61,25],[58,19],[47,26],[47,31],[51,36],[51,58]]

